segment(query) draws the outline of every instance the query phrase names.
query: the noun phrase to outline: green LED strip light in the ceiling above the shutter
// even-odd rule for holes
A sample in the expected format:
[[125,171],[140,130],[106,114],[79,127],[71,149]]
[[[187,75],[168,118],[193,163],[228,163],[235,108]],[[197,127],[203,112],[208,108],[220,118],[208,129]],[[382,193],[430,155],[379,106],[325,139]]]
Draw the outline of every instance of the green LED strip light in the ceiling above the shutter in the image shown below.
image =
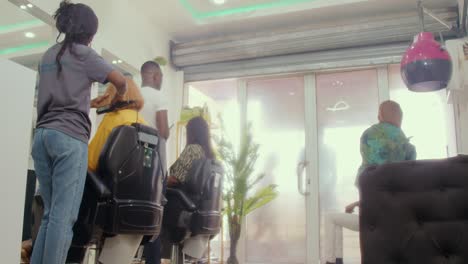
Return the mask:
[[317,0],[276,0],[276,1],[271,1],[271,2],[263,3],[263,4],[245,5],[245,6],[222,9],[222,10],[211,11],[211,12],[200,12],[196,10],[189,3],[188,0],[179,0],[179,1],[185,7],[185,9],[189,11],[189,13],[192,15],[193,18],[204,19],[204,18],[210,18],[210,17],[223,17],[223,16],[234,15],[234,14],[247,13],[247,12],[251,12],[255,10],[264,10],[264,9],[278,8],[278,7],[284,7],[284,6],[294,5],[294,4],[314,2]]

